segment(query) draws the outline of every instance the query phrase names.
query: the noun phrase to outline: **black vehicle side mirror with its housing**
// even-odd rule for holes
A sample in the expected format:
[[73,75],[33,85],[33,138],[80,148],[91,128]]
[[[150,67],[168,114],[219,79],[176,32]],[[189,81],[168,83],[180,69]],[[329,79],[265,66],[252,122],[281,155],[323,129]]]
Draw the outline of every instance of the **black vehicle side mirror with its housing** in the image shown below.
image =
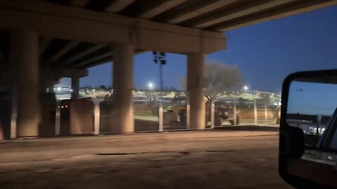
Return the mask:
[[282,87],[279,174],[296,188],[337,188],[337,70],[289,75]]

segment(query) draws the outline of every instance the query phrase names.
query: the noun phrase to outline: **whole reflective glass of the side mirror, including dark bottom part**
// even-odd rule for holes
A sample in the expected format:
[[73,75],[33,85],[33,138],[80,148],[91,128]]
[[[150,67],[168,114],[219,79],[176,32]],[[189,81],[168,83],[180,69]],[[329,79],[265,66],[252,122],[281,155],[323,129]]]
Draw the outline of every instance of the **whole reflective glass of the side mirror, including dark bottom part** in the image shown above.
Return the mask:
[[286,123],[303,131],[305,146],[300,159],[289,161],[289,173],[336,187],[333,178],[337,176],[337,78],[293,80]]

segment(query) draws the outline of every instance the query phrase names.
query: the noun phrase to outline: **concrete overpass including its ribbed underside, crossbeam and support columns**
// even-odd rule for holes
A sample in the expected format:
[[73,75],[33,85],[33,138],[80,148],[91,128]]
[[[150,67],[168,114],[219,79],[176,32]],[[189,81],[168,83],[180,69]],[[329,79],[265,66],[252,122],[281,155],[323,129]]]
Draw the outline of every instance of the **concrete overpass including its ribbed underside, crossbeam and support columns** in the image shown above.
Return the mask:
[[[336,0],[11,0],[0,2],[2,88],[11,95],[11,134],[38,136],[39,92],[62,77],[114,62],[117,131],[133,132],[133,56],[149,50],[188,57],[190,128],[204,129],[204,57],[225,50],[224,31],[333,6]],[[15,100],[13,100],[15,99]],[[31,107],[35,107],[32,109]],[[15,124],[14,124],[15,123]],[[13,126],[14,124],[14,126]]]

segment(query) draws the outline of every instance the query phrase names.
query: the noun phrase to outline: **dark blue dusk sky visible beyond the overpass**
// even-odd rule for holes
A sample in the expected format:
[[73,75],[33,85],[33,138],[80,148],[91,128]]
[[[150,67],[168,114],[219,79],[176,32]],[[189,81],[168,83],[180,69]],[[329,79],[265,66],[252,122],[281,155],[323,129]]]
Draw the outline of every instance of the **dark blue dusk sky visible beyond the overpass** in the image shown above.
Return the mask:
[[[337,68],[337,6],[315,10],[281,20],[263,22],[227,32],[227,50],[208,55],[209,61],[235,64],[253,90],[279,92],[282,80],[295,71]],[[152,53],[135,57],[135,85],[159,85],[159,66]],[[164,86],[180,87],[186,74],[185,55],[168,54]],[[111,85],[112,65],[89,69],[80,85]],[[62,84],[70,85],[69,80]]]

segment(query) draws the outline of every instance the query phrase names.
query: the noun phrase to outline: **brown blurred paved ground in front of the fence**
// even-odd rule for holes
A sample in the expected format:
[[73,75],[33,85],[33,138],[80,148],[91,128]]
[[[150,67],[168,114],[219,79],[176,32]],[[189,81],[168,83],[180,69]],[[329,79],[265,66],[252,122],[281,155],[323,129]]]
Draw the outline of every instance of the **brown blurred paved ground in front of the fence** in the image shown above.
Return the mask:
[[204,131],[0,144],[0,188],[291,188],[277,132]]

